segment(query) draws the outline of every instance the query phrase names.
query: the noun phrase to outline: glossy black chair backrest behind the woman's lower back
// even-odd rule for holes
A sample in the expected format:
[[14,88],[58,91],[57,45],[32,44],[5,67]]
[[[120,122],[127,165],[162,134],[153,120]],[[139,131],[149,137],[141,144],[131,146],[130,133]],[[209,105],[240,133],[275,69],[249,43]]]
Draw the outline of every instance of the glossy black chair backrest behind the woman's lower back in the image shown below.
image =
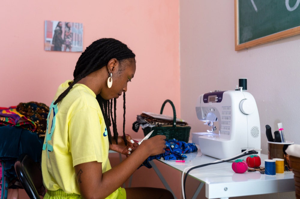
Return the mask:
[[32,158],[27,154],[22,154],[15,162],[16,174],[31,199],[41,199],[44,196],[45,187],[43,185],[42,171]]

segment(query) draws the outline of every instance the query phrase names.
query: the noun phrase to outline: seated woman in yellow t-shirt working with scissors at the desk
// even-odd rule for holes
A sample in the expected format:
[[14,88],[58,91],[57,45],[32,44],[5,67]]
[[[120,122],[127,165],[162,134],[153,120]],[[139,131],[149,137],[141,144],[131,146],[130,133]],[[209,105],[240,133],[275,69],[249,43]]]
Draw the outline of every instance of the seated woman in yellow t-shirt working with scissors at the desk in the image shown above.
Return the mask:
[[[135,70],[135,54],[116,39],[99,39],[81,54],[74,79],[58,87],[50,105],[42,151],[44,199],[173,198],[165,189],[120,187],[147,157],[166,147],[164,135],[140,146],[124,130],[124,139],[118,136],[109,100],[125,94]],[[109,149],[128,157],[111,168]]]

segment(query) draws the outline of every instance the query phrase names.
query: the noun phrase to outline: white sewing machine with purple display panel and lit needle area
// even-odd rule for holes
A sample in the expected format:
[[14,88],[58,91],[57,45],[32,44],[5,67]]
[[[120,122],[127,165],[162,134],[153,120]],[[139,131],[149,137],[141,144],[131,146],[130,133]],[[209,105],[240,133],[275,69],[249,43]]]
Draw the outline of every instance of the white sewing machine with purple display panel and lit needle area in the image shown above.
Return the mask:
[[192,133],[192,142],[199,144],[203,154],[224,159],[246,149],[260,149],[259,114],[254,97],[247,91],[240,88],[202,94],[196,102],[196,114],[211,127],[208,132]]

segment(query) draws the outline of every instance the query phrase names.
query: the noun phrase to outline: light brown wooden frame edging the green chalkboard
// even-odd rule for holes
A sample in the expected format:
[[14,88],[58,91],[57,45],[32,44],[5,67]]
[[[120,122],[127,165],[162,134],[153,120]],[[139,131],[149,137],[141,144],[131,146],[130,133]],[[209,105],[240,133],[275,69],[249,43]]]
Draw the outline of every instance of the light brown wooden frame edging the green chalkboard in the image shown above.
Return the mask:
[[264,36],[259,39],[254,39],[249,42],[239,44],[239,16],[238,16],[238,0],[234,0],[234,10],[235,10],[235,50],[244,50],[250,47],[261,45],[267,42],[272,42],[278,39],[283,39],[289,36],[300,34],[300,26],[294,27],[288,30],[284,30],[278,33],[274,33],[268,36]]

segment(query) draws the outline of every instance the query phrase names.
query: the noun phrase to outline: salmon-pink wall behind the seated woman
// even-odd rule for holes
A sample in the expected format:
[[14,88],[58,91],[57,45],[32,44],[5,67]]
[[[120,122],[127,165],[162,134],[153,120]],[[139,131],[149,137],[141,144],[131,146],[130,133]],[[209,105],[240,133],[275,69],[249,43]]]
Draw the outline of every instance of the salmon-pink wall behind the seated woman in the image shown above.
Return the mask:
[[[0,17],[0,107],[30,101],[49,106],[58,85],[72,79],[81,53],[44,50],[44,20],[54,20],[83,23],[83,49],[94,40],[113,37],[136,54],[137,71],[126,93],[126,133],[143,137],[141,129],[131,130],[136,116],[142,111],[159,113],[166,99],[174,102],[180,117],[178,0],[3,0]],[[122,132],[123,102],[118,101]],[[172,114],[171,106],[166,105],[164,114]],[[149,171],[153,169],[140,173]],[[143,175],[134,176],[133,184],[145,182]],[[147,178],[147,183],[162,186],[157,178]],[[178,189],[179,184],[174,186]]]

